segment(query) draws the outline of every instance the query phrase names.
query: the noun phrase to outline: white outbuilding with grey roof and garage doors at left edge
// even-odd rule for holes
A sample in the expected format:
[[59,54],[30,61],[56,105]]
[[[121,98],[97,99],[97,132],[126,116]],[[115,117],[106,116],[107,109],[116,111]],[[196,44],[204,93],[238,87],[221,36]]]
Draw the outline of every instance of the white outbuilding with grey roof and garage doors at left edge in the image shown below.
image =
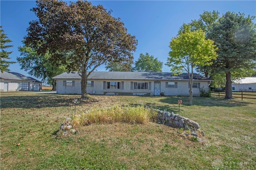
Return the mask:
[[18,72],[4,71],[0,73],[0,91],[39,91],[42,90],[42,82],[24,76]]

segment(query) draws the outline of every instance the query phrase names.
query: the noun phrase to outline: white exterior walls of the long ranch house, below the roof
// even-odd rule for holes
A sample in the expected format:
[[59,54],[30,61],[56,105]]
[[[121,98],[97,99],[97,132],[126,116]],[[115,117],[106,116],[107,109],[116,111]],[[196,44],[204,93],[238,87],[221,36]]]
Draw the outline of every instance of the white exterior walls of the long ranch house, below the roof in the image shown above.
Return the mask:
[[[74,81],[74,86],[64,86],[66,80]],[[177,88],[166,88],[168,81],[154,81],[154,80],[113,80],[113,79],[88,79],[92,81],[93,86],[88,86],[86,92],[96,95],[154,95],[154,82],[160,82],[160,92],[164,92],[166,96],[189,96],[188,81],[169,81],[177,82]],[[81,94],[81,80],[78,79],[57,79],[57,93],[58,94]],[[121,89],[106,89],[104,82],[121,82]],[[133,89],[131,82],[148,82],[148,90]],[[200,83],[200,88],[208,89],[208,81],[194,81]],[[104,88],[105,85],[105,88]],[[193,88],[193,96],[200,96],[199,88]]]

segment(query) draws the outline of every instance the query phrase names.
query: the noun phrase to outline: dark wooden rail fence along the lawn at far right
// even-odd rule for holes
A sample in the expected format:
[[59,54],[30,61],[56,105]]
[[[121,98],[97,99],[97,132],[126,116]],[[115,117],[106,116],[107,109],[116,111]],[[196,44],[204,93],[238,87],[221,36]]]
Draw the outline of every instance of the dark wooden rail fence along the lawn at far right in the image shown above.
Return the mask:
[[[216,97],[224,97],[225,96],[225,92],[212,92],[211,93],[212,96],[216,96]],[[232,92],[232,98],[241,98],[242,100],[244,99],[250,99],[250,100],[255,100],[256,101],[256,92]]]

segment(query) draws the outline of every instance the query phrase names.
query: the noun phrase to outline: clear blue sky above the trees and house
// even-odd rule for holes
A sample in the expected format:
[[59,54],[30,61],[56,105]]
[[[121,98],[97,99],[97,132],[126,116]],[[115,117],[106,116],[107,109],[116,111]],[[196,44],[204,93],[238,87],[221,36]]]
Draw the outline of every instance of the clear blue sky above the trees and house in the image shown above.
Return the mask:
[[[67,1],[70,2],[70,1]],[[169,43],[172,37],[178,33],[183,23],[191,20],[198,20],[204,11],[216,10],[220,15],[230,12],[241,12],[245,16],[256,16],[256,1],[90,1],[93,5],[101,4],[107,10],[112,10],[112,16],[121,18],[128,33],[135,35],[138,40],[137,49],[134,52],[134,61],[140,53],[149,53],[158,60],[166,63],[170,51]],[[29,21],[36,20],[31,8],[36,6],[35,1],[13,1],[0,0],[0,25],[4,29],[14,47],[9,61],[16,61],[20,57],[18,46],[22,46],[22,39],[27,35],[26,29]],[[254,19],[256,23],[256,19]],[[19,72],[25,76],[30,76],[20,69],[18,63],[11,64],[12,72]],[[105,71],[104,66],[100,66],[98,71]],[[163,72],[170,72],[170,68],[163,66]]]

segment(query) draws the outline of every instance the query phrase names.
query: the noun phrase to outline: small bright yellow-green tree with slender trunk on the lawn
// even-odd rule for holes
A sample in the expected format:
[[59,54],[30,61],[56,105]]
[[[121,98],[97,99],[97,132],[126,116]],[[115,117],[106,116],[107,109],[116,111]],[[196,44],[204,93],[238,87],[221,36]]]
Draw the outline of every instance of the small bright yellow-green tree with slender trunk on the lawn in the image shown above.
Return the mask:
[[170,42],[170,53],[167,59],[167,66],[174,74],[188,73],[190,90],[190,105],[192,105],[192,82],[194,68],[198,65],[211,64],[209,61],[216,59],[216,48],[214,42],[205,39],[205,32],[202,30],[191,31],[190,25],[184,27],[177,37]]

